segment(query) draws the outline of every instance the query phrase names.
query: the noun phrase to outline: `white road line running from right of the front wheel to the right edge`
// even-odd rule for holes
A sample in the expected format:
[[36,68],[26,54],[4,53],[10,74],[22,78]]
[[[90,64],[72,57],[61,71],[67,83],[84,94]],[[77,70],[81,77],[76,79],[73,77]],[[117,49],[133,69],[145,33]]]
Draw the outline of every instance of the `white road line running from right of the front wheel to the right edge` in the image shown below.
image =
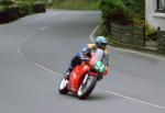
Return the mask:
[[135,99],[135,98],[127,97],[127,95],[123,95],[123,94],[120,94],[120,93],[117,93],[117,92],[113,92],[113,91],[106,91],[106,92],[109,93],[109,94],[113,94],[113,95],[124,98],[124,99],[130,100],[130,101],[143,103],[143,104],[147,104],[147,105],[151,105],[151,106],[154,106],[154,108],[157,108],[157,109],[165,110],[165,106],[162,106],[162,105],[157,105],[157,104],[145,102],[145,101],[142,101],[142,100],[139,100],[139,99]]

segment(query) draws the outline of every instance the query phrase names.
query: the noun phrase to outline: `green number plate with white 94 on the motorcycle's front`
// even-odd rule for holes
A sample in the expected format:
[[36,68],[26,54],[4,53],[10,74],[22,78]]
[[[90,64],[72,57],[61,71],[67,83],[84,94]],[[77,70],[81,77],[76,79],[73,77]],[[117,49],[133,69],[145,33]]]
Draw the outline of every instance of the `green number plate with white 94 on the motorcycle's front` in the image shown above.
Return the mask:
[[98,72],[105,72],[106,71],[106,66],[102,61],[96,61],[94,65],[94,69],[96,69]]

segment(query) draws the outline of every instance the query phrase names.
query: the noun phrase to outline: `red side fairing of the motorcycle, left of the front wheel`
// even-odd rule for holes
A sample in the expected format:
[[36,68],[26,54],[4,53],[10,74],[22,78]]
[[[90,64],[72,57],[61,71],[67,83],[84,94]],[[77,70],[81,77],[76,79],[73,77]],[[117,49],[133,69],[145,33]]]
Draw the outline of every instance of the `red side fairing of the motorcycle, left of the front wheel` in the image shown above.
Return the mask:
[[69,76],[68,89],[70,89],[74,92],[77,92],[85,74],[87,74],[87,71],[91,67],[86,65],[86,64],[82,64],[80,66],[76,66]]

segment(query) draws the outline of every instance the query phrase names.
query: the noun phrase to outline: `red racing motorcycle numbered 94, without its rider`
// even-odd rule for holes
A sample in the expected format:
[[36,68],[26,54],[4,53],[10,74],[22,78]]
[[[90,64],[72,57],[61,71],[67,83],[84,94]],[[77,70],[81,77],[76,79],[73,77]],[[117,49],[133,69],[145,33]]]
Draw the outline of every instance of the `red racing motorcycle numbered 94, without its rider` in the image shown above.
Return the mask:
[[97,48],[90,53],[89,60],[76,66],[69,75],[69,79],[62,79],[58,91],[61,94],[74,92],[78,99],[86,99],[94,90],[98,80],[106,76],[109,69],[101,61],[103,50]]

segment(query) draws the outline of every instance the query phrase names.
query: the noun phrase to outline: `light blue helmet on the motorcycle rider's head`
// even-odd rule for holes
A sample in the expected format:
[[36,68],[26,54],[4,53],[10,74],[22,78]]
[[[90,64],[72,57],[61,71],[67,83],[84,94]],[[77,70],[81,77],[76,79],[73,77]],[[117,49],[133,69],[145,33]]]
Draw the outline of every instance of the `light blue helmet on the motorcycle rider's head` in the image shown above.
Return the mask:
[[95,43],[98,48],[106,48],[107,46],[107,39],[105,36],[97,36]]

